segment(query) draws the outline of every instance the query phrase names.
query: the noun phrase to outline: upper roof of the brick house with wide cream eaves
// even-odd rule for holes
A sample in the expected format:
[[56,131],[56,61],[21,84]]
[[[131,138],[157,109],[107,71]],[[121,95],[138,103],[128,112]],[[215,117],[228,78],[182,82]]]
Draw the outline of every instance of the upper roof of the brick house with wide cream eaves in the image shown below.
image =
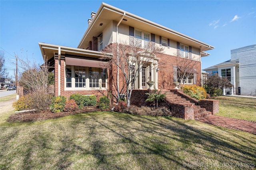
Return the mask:
[[[121,20],[122,17],[124,17],[123,20]],[[92,40],[92,37],[101,34],[104,28],[106,28],[112,20],[117,23],[121,20],[122,24],[150,32],[152,34],[164,36],[165,38],[201,49],[201,51],[214,49],[212,45],[200,42],[199,40],[171,30],[170,28],[166,28],[156,24],[155,22],[151,22],[150,20],[146,20],[103,2],[78,44],[78,48],[88,47],[88,43]]]

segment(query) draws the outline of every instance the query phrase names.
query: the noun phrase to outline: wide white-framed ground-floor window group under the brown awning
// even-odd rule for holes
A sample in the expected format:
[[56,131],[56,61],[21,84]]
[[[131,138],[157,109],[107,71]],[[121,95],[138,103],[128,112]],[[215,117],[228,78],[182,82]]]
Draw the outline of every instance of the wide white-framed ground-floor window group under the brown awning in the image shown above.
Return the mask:
[[98,89],[107,87],[107,69],[66,65],[67,89]]

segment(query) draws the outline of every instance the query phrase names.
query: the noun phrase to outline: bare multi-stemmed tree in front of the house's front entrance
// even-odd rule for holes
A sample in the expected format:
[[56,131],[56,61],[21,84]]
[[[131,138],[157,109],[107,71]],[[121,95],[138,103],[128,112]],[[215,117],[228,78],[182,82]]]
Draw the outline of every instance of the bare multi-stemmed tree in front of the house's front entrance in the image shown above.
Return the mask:
[[[110,44],[104,49],[104,52],[106,53],[106,57],[110,58],[111,64],[116,65],[120,70],[122,77],[119,78],[119,81],[121,80],[125,84],[127,106],[129,107],[132,90],[143,65],[152,61],[156,55],[162,53],[163,48],[156,47],[150,42],[144,45],[144,47],[141,47],[141,42],[135,41],[132,43],[121,42]],[[112,55],[110,57],[108,53],[112,53],[113,57]],[[118,76],[116,78],[118,79]],[[119,99],[120,90],[117,93],[117,98]]]

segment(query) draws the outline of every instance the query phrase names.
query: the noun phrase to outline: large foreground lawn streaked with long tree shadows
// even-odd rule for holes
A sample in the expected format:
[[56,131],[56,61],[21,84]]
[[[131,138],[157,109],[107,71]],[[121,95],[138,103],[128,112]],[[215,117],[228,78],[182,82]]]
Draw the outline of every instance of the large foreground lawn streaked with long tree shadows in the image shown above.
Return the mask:
[[0,113],[0,170],[256,166],[256,135],[198,121],[94,112],[8,123],[11,114]]

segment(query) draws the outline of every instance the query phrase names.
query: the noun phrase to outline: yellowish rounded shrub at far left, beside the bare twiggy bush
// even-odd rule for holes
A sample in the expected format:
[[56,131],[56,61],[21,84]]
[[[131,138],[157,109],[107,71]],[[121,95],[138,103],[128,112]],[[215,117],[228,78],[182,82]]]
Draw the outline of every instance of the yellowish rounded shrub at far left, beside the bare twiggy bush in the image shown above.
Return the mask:
[[16,102],[12,104],[16,111],[32,109],[32,95],[28,94],[20,97]]

